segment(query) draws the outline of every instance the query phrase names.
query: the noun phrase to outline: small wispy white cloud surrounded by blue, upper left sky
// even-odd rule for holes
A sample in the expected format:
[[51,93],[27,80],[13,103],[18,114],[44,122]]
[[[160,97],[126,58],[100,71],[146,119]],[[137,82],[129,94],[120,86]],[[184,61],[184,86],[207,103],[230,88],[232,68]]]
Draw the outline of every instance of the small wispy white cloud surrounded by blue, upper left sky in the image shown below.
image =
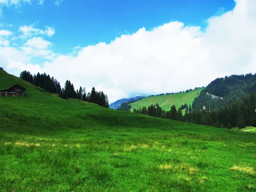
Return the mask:
[[48,37],[51,37],[55,34],[55,30],[52,27],[46,26],[46,29],[37,29],[34,27],[34,25],[29,26],[20,26],[19,31],[23,33],[23,35],[20,35],[20,38],[29,38],[35,35],[47,35]]

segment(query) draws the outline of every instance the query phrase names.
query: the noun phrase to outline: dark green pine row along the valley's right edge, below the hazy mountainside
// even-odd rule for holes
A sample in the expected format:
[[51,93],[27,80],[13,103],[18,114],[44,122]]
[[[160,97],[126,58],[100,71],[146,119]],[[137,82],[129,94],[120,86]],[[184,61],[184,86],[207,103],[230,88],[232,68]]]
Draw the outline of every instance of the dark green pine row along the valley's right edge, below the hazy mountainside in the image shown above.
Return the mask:
[[256,127],[256,93],[250,93],[234,101],[231,105],[225,105],[216,111],[205,109],[192,111],[191,105],[189,105],[189,107],[186,105],[185,114],[183,115],[181,108],[177,110],[175,105],[167,112],[162,110],[159,105],[151,105],[148,106],[148,108],[134,108],[134,113],[218,128]]

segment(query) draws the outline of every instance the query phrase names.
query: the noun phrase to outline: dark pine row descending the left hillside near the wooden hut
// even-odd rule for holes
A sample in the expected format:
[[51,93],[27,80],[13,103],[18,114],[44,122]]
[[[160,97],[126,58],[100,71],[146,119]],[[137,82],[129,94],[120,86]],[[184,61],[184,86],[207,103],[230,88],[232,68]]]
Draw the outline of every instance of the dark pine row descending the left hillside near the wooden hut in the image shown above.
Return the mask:
[[79,90],[77,89],[75,91],[73,83],[67,80],[64,87],[61,88],[60,82],[54,77],[50,77],[46,73],[37,73],[37,75],[32,76],[32,74],[26,70],[20,73],[20,78],[47,90],[49,93],[56,93],[63,99],[80,99],[101,105],[105,108],[109,107],[108,95],[103,93],[103,91],[96,91],[94,87],[88,93],[86,93],[85,88],[82,88],[81,86],[79,87]]

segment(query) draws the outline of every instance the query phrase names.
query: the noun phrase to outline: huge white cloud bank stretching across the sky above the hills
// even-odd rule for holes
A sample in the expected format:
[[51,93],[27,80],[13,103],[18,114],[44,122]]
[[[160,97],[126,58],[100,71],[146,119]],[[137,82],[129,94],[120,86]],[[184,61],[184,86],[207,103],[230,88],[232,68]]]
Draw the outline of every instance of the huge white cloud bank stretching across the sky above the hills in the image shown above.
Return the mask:
[[205,30],[181,22],[143,27],[111,44],[83,47],[77,56],[56,55],[39,68],[26,62],[6,68],[40,70],[62,85],[69,79],[87,91],[94,86],[107,93],[110,102],[131,93],[204,86],[217,77],[256,72],[255,10],[255,0],[236,0],[232,11],[209,18]]

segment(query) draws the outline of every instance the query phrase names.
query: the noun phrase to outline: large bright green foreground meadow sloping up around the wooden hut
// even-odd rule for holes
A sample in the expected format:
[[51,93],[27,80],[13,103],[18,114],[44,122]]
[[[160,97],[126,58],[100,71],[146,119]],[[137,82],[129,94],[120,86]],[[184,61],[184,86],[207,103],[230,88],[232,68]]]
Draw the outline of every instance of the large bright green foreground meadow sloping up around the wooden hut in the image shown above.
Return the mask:
[[0,191],[255,191],[256,134],[64,100],[0,70]]

